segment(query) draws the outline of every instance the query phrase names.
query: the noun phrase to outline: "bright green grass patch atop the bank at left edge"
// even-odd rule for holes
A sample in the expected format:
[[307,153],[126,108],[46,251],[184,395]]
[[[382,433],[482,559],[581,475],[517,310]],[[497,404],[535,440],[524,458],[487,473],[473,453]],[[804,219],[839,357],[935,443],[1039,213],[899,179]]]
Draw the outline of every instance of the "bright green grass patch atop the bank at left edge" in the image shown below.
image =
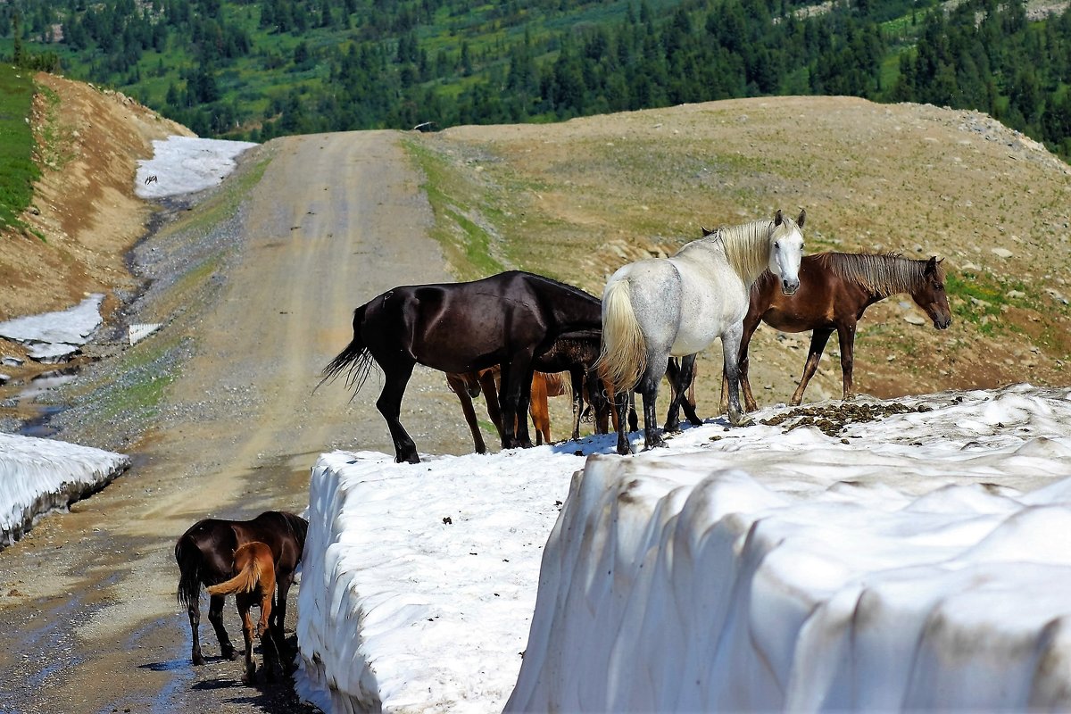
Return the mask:
[[18,216],[41,176],[30,126],[34,91],[29,71],[0,65],[0,229],[22,227]]

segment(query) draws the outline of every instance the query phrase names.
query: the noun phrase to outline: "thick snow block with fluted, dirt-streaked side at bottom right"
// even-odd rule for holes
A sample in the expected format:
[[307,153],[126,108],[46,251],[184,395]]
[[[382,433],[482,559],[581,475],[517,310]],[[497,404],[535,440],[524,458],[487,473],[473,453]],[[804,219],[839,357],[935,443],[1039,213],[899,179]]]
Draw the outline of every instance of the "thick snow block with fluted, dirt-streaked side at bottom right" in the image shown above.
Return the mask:
[[507,711],[1071,707],[1068,393],[941,401],[907,443],[592,458]]

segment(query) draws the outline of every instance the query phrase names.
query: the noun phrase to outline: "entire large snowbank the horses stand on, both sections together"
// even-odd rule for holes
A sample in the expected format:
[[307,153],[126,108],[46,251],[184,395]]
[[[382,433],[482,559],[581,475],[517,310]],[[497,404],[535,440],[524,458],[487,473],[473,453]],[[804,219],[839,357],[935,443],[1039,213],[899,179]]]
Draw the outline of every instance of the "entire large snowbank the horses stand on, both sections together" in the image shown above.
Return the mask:
[[[300,689],[334,712],[1069,707],[1069,396],[905,399],[833,437],[710,423],[630,458],[325,455]],[[573,450],[603,455],[574,477]]]

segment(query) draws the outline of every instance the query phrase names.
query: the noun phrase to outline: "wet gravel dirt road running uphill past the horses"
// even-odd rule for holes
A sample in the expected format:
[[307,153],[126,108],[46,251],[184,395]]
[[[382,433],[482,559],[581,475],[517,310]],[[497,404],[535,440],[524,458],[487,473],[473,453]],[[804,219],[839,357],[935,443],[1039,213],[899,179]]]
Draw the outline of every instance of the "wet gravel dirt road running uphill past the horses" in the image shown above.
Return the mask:
[[[293,711],[286,687],[240,683],[241,663],[215,656],[203,616],[209,664],[191,666],[172,549],[202,517],[303,511],[321,452],[392,452],[375,377],[352,401],[342,382],[312,391],[349,340],[357,305],[450,279],[397,138],[313,135],[262,149],[274,157],[246,199],[221,299],[171,328],[196,350],[167,391],[166,428],[150,429],[111,486],[0,552],[0,711]],[[414,374],[403,420],[418,449],[470,450],[453,399],[440,374]],[[226,618],[240,642],[229,604]]]

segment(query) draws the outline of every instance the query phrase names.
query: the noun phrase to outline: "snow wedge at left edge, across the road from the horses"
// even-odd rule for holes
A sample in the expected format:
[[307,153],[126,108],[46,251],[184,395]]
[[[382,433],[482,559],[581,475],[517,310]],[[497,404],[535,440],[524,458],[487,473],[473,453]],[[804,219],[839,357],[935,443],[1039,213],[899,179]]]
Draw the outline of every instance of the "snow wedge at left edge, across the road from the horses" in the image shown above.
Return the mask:
[[130,467],[123,454],[0,432],[0,546],[36,518],[100,490]]

